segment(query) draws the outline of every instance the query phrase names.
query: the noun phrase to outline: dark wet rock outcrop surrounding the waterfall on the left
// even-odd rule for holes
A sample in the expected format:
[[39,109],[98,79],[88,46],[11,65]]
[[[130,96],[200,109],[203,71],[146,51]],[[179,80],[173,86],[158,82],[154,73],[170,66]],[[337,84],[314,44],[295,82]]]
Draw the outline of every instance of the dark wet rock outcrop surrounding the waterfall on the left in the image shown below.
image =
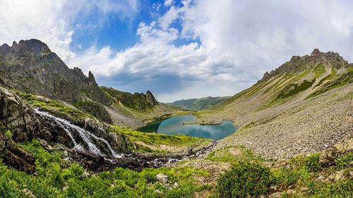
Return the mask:
[[[68,117],[65,122],[76,125],[70,128],[63,122],[58,122],[58,119],[39,114],[15,92],[0,87],[0,158],[8,166],[33,173],[34,159],[13,143],[26,142],[33,138],[45,140],[50,144],[64,144],[68,148],[74,148],[77,144],[90,148],[92,145],[88,145],[87,140],[84,140],[90,138],[92,142],[89,143],[95,144],[102,155],[107,157],[127,150],[128,139],[119,133],[109,132],[111,129],[105,123],[89,118],[70,120]],[[11,132],[11,138],[5,135],[7,131]],[[82,132],[87,134],[82,135]],[[81,153],[85,152],[87,156],[92,154],[90,149],[81,149]]]

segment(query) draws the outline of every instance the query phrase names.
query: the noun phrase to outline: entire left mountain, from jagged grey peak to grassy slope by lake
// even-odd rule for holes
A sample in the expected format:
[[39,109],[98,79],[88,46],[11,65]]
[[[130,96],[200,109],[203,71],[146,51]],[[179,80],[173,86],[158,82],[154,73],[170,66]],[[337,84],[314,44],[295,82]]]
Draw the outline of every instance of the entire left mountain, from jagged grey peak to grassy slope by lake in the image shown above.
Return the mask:
[[99,87],[91,72],[68,68],[47,44],[37,39],[0,46],[0,85],[59,101],[106,123],[143,126],[143,120],[170,115],[175,109],[159,104],[153,94],[120,92]]

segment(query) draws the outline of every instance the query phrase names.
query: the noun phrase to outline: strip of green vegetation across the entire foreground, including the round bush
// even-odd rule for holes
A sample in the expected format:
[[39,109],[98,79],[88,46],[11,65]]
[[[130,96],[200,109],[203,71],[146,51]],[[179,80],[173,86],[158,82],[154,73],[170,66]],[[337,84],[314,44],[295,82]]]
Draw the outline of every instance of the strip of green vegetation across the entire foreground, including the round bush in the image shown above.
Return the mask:
[[[162,140],[157,140],[162,141]],[[168,141],[168,140],[166,140]],[[167,142],[163,142],[166,144]],[[0,163],[0,197],[352,197],[352,151],[333,156],[327,166],[322,154],[297,156],[269,163],[245,147],[225,147],[211,152],[203,161],[230,163],[232,168],[217,182],[200,182],[213,171],[206,167],[181,166],[127,168],[90,173],[78,163],[62,159],[62,151],[46,151],[37,140],[18,144],[35,156],[33,175]],[[190,159],[189,161],[193,161]],[[167,180],[157,175],[167,176]],[[340,178],[337,178],[337,174]],[[333,175],[333,176],[332,176]],[[348,178],[347,178],[348,177]],[[325,178],[325,179],[323,179]]]

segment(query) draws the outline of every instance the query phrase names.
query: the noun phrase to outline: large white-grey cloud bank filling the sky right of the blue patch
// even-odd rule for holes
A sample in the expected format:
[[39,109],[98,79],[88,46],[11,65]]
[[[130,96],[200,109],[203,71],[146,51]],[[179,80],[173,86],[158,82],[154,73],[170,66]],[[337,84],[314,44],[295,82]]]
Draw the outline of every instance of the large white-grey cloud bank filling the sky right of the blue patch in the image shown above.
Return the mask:
[[[171,101],[234,94],[266,70],[316,47],[353,60],[347,45],[353,40],[350,1],[196,0],[182,1],[181,8],[170,2],[164,2],[169,11],[159,20],[140,23],[138,44],[117,54],[111,52],[101,64],[88,69],[100,79],[123,74],[140,77],[133,78],[131,85],[134,80],[148,82],[160,75],[175,75],[181,79],[175,83],[186,81],[187,85],[157,92],[158,99]],[[181,30],[173,27],[176,20],[181,20]],[[201,44],[176,47],[173,42],[179,38],[198,38]]]

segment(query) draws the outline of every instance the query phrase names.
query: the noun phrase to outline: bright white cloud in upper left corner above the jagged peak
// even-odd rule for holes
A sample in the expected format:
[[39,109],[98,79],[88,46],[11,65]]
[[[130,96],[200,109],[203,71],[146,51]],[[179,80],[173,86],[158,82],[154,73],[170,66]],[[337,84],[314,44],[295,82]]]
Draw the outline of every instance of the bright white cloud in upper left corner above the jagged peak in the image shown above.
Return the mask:
[[138,11],[138,1],[0,0],[0,43],[40,39],[68,61],[76,56],[69,44],[73,32],[81,26],[73,23],[77,18],[92,14],[94,8],[99,9],[96,18],[104,18],[109,13],[131,18]]

